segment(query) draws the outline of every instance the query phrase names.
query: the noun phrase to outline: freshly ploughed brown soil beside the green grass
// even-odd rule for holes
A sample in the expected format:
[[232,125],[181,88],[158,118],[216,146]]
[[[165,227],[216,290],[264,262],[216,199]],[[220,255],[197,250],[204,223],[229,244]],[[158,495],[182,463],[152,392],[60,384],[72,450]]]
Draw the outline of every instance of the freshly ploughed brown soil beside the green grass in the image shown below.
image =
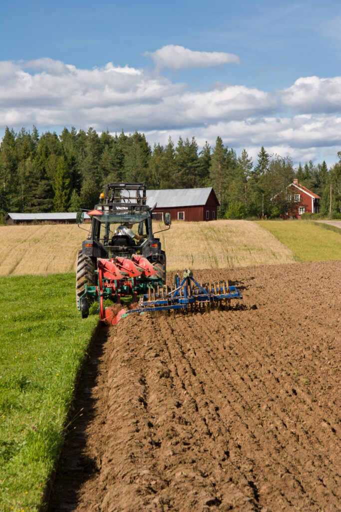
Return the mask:
[[243,299],[100,331],[49,512],[339,510],[341,262],[195,278]]

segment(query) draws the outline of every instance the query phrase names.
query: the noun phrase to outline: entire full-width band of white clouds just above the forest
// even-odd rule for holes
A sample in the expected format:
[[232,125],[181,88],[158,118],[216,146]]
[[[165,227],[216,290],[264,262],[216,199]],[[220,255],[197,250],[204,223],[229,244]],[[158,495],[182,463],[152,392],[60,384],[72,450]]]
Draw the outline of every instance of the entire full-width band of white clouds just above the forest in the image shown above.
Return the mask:
[[192,92],[160,73],[112,62],[87,70],[49,58],[0,61],[3,127],[138,130],[151,144],[181,135],[199,146],[220,136],[251,155],[261,145],[298,159],[341,147],[340,91],[341,77],[300,78],[274,93],[222,83]]

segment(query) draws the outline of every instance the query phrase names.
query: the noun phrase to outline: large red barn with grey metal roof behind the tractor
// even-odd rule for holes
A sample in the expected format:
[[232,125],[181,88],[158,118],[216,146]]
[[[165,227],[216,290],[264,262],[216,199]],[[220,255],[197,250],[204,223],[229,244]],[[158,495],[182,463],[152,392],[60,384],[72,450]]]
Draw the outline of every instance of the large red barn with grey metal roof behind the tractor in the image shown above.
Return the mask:
[[159,214],[160,220],[166,211],[170,212],[172,221],[199,222],[217,218],[219,201],[212,187],[147,190],[146,196],[148,206],[156,203],[153,215]]

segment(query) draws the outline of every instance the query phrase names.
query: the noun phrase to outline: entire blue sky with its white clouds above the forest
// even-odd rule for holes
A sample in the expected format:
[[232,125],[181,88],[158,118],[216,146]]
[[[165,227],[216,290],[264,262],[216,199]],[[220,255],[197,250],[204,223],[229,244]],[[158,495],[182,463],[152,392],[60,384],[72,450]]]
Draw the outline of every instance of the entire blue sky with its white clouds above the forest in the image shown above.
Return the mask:
[[12,0],[1,6],[6,125],[216,137],[294,162],[341,150],[341,3]]

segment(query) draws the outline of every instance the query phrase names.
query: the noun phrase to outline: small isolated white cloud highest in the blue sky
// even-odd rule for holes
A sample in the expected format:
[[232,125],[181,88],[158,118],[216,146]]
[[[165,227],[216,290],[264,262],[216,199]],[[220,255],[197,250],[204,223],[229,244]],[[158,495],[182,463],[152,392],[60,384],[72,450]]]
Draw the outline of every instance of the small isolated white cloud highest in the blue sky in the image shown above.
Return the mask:
[[155,52],[145,52],[144,57],[150,57],[157,69],[169,68],[180,71],[192,68],[212,68],[223,64],[239,64],[238,55],[225,52],[197,52],[183,46],[167,45]]

